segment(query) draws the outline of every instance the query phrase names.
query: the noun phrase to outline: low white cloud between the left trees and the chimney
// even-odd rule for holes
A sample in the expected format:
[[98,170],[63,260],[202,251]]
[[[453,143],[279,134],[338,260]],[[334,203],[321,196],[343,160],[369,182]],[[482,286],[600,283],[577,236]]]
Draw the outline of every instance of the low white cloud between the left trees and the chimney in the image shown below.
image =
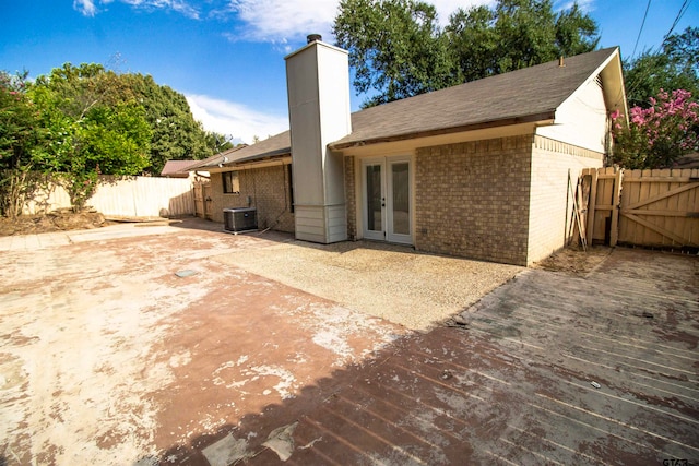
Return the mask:
[[206,131],[225,134],[248,144],[254,136],[265,140],[288,130],[285,115],[271,115],[253,110],[241,104],[212,98],[205,95],[186,95],[196,120]]

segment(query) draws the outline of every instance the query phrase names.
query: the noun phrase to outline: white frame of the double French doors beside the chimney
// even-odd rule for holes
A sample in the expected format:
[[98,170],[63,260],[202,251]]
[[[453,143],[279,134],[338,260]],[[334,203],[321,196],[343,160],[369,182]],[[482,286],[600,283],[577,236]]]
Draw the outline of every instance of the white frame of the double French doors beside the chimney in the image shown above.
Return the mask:
[[[395,210],[393,205],[393,177],[392,168],[395,164],[407,164],[408,167],[408,177],[407,177],[407,190],[408,192],[404,195],[407,196],[407,208],[408,212],[404,215],[405,218],[402,218],[402,222],[407,222],[407,234],[395,232],[394,226],[396,220],[401,220],[395,216]],[[382,156],[382,157],[369,157],[362,159],[362,229],[363,237],[366,239],[379,240],[379,241],[389,241],[404,244],[413,243],[413,182],[412,182],[412,170],[413,163],[410,155],[399,155],[399,156]],[[379,217],[376,220],[380,222],[380,226],[376,229],[369,229],[369,200],[367,196],[367,168],[371,166],[378,166],[380,170],[380,199],[375,200],[375,202],[381,203],[381,212]],[[375,222],[376,222],[375,220]],[[376,225],[376,223],[375,223]]]

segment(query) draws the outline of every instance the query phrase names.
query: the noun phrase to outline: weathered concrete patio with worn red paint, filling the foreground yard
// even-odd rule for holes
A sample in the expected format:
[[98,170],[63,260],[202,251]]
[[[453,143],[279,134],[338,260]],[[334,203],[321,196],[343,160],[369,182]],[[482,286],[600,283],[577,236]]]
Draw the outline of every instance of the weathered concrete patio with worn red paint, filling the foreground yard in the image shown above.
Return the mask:
[[[291,284],[318,261],[359,288],[350,249],[220,228],[0,238],[0,464],[699,459],[696,256],[498,270],[482,299],[439,301],[459,322],[413,330]],[[443,261],[457,287],[490,266],[346,247],[404,274]],[[307,259],[270,266],[292,250]]]

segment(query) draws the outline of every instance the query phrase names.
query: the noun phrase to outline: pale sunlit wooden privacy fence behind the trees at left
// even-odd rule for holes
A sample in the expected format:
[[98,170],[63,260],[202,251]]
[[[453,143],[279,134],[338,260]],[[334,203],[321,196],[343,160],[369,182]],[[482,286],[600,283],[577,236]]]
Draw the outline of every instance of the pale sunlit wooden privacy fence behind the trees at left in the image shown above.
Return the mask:
[[[110,217],[157,217],[194,214],[192,181],[182,178],[99,177],[95,194],[85,205]],[[58,182],[49,182],[28,200],[24,214],[70,207],[70,196]]]

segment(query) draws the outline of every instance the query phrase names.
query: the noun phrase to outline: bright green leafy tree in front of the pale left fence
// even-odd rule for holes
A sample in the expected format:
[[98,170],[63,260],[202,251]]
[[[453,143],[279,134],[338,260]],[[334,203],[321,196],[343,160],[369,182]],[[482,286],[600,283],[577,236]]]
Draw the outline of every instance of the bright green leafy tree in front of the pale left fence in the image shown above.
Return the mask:
[[150,165],[145,110],[125,100],[120,84],[100,65],[66,64],[29,88],[48,135],[33,160],[64,178],[74,210],[94,193],[98,175],[138,175]]

